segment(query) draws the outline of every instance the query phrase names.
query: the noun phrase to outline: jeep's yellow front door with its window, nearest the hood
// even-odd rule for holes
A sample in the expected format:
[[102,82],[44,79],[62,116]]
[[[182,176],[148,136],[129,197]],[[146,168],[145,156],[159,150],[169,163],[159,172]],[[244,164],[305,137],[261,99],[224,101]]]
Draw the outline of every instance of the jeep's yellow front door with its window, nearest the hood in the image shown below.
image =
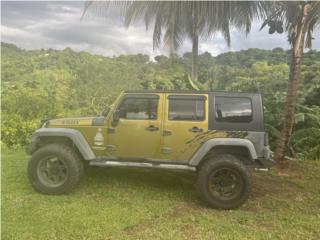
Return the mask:
[[152,159],[160,152],[161,94],[125,94],[108,128],[109,155],[126,159]]

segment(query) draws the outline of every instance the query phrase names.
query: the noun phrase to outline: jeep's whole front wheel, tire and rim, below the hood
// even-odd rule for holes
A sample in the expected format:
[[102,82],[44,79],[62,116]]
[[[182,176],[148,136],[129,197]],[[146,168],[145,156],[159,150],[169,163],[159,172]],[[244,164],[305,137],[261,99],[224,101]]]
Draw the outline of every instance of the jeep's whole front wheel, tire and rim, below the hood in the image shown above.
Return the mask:
[[78,154],[62,144],[48,144],[37,150],[28,164],[28,177],[35,190],[63,194],[80,181],[83,163]]

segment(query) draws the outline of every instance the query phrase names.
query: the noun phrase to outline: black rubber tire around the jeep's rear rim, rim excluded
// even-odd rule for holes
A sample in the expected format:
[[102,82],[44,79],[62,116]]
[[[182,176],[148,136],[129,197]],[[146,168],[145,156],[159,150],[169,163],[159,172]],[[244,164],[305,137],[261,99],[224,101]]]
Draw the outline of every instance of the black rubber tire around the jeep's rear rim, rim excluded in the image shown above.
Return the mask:
[[[218,169],[231,169],[238,174],[242,181],[240,192],[230,200],[221,200],[214,196],[209,187],[211,173]],[[251,192],[251,175],[247,167],[235,156],[229,154],[219,154],[200,165],[198,169],[197,189],[201,198],[211,207],[217,209],[234,209],[241,206],[249,197]]]

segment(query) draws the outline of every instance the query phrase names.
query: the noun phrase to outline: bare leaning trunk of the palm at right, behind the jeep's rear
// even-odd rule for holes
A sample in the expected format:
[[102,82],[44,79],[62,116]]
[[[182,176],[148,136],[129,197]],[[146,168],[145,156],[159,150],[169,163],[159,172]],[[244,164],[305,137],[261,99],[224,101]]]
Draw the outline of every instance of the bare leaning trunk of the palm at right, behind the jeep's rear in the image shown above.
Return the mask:
[[297,102],[298,87],[301,71],[301,60],[303,56],[303,47],[305,42],[305,33],[307,28],[306,18],[308,15],[308,4],[304,5],[303,16],[300,23],[296,27],[295,38],[292,42],[292,60],[290,66],[289,83],[286,98],[286,107],[284,115],[284,125],[281,131],[281,136],[277,142],[277,148],[274,158],[283,165],[285,159],[284,156],[289,149],[289,141],[292,135],[292,129],[294,124],[294,113]]

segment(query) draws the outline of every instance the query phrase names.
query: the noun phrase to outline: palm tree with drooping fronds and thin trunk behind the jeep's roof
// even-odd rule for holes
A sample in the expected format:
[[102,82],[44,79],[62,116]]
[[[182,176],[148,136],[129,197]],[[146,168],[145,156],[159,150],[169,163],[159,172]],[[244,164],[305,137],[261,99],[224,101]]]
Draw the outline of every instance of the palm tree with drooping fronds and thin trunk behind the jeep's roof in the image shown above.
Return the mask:
[[[110,7],[110,2],[89,1],[87,9],[95,4]],[[216,32],[221,32],[230,46],[230,27],[243,29],[248,33],[251,22],[261,12],[260,2],[229,1],[127,1],[117,7],[123,11],[125,25],[128,27],[135,21],[143,20],[146,29],[154,23],[153,47],[160,47],[162,41],[170,49],[177,50],[187,37],[192,42],[193,81],[198,80],[199,38],[207,39]],[[163,36],[164,31],[164,36]]]

